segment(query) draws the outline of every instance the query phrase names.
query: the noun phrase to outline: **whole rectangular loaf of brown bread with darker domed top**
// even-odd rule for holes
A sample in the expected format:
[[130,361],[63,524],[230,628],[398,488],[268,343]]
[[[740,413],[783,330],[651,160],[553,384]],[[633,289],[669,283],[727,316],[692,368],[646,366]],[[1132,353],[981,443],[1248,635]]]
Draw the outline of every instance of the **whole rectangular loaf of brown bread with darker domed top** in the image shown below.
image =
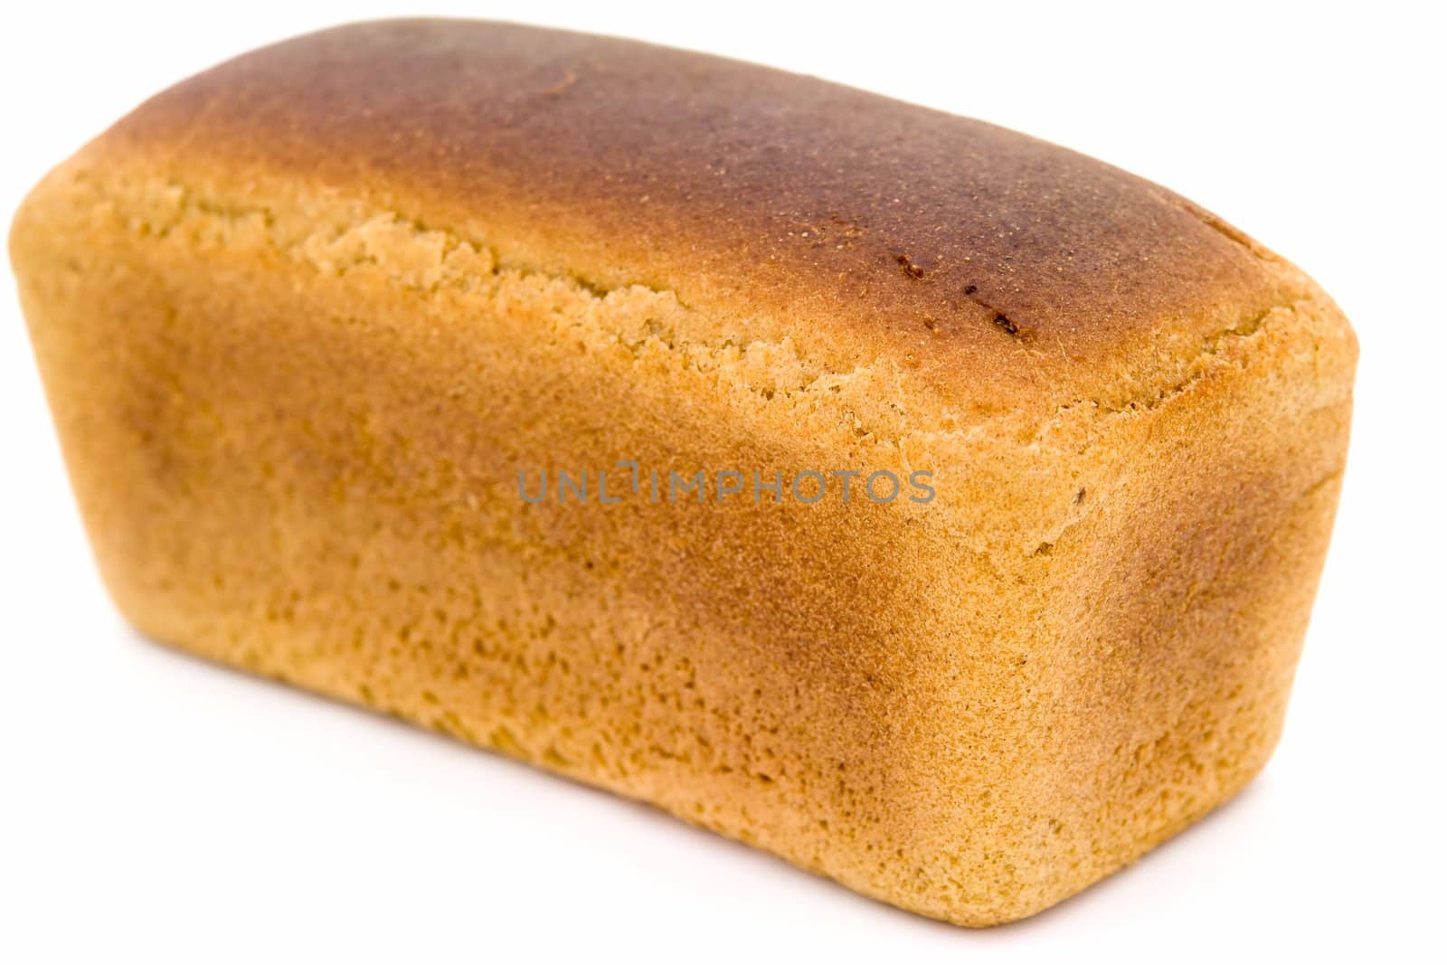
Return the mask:
[[148,101],[10,252],[158,641],[969,926],[1133,861],[1281,731],[1356,341],[1090,158],[382,22]]

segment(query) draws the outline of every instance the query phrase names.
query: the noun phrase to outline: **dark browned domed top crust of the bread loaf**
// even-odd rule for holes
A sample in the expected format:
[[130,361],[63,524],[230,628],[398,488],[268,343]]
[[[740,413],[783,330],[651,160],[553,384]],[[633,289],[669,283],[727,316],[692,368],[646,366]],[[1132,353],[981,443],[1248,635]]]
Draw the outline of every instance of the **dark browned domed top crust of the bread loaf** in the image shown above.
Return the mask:
[[1295,284],[1184,198],[1033,137],[501,23],[288,41],[158,95],[103,143],[300,174],[423,223],[480,217],[504,258],[725,315],[839,326],[849,352],[906,359],[946,391],[968,376],[1058,392],[1082,365],[1119,375],[1162,339],[1259,317]]

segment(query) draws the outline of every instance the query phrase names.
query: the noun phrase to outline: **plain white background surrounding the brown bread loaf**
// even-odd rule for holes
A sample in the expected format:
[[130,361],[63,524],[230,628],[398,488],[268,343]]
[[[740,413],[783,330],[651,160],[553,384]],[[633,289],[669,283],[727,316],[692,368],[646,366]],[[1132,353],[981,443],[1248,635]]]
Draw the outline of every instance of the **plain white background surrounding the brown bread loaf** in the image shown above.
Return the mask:
[[[1265,774],[1078,898],[967,932],[153,647],[93,570],[0,272],[0,961],[1443,961],[1441,25],[1389,4],[690,6],[427,12],[712,51],[1026,130],[1215,210],[1343,305],[1362,339],[1353,449]],[[9,221],[45,169],[191,72],[405,12],[7,4],[0,213]]]

